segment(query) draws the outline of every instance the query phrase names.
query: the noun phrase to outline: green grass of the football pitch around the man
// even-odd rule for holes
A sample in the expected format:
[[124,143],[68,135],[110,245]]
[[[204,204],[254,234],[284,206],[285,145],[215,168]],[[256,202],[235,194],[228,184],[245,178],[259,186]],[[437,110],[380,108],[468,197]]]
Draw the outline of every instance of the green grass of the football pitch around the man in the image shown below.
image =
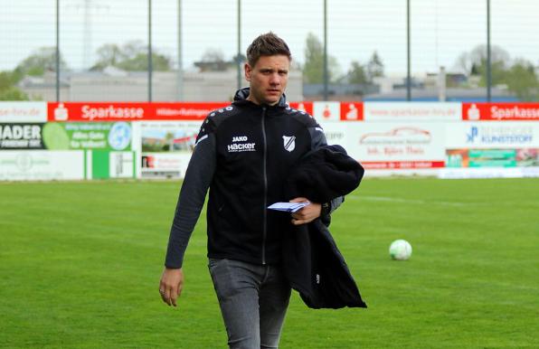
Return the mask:
[[[225,347],[203,217],[179,307],[157,292],[179,187],[0,184],[0,347]],[[539,180],[367,178],[331,231],[369,308],[294,294],[282,348],[539,347]]]

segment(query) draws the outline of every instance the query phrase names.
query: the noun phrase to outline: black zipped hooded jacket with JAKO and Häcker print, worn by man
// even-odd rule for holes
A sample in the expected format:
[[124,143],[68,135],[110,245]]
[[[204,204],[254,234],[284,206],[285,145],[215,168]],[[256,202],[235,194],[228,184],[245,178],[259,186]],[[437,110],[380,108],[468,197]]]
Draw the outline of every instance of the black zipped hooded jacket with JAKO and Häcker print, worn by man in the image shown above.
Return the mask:
[[267,207],[287,199],[283,188],[289,169],[325,146],[326,137],[314,118],[290,108],[284,96],[275,106],[254,104],[248,96],[249,89],[239,90],[230,106],[203,121],[176,206],[168,268],[182,266],[208,188],[208,257],[281,261],[290,218]]

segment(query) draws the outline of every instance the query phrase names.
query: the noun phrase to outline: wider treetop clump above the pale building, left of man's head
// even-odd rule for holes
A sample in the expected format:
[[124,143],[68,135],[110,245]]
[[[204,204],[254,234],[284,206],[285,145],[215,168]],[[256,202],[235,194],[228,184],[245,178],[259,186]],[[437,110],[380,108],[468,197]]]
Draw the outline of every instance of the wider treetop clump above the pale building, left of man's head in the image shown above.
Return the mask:
[[[102,71],[112,66],[124,71],[147,71],[147,46],[141,41],[127,42],[123,46],[106,43],[97,50],[98,61],[92,71]],[[172,61],[169,57],[152,52],[152,68],[154,71],[170,71]]]

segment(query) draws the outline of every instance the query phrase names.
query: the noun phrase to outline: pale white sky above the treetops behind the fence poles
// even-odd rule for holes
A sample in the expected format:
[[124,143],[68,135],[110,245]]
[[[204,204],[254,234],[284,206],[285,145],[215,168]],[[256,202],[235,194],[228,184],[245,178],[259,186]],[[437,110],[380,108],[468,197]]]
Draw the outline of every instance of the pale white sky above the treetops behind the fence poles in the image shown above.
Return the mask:
[[[97,60],[105,43],[147,43],[147,0],[60,0],[61,52],[73,70]],[[238,51],[238,0],[181,2],[182,67],[193,69],[204,52],[225,59]],[[152,45],[178,62],[178,0],[153,0]],[[457,60],[487,42],[486,0],[411,0],[411,71],[458,71]],[[90,11],[85,12],[88,3]],[[327,49],[341,73],[376,51],[387,75],[406,72],[405,0],[327,0]],[[491,42],[539,66],[538,0],[490,0]],[[241,52],[260,33],[288,42],[295,61],[305,59],[308,33],[324,37],[323,0],[242,0]],[[88,14],[85,17],[85,13]],[[0,0],[0,71],[13,69],[42,46],[55,44],[55,1]],[[85,18],[87,20],[85,21]],[[86,24],[86,25],[85,25]]]

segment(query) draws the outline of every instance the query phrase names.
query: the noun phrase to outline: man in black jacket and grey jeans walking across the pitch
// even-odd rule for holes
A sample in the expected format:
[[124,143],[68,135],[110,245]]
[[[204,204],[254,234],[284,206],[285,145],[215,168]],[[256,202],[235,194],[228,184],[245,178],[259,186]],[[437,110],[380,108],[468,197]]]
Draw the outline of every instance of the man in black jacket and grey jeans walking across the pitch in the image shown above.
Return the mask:
[[[314,118],[286,104],[291,55],[274,33],[247,50],[245,79],[232,105],[204,120],[176,206],[161,297],[176,306],[184,286],[187,242],[210,189],[208,258],[231,348],[276,348],[290,286],[280,267],[281,238],[291,224],[312,222],[340,204],[310,203],[290,217],[267,209],[286,197],[288,171],[326,145]],[[306,202],[298,197],[292,202]],[[324,206],[324,207],[322,207]]]

